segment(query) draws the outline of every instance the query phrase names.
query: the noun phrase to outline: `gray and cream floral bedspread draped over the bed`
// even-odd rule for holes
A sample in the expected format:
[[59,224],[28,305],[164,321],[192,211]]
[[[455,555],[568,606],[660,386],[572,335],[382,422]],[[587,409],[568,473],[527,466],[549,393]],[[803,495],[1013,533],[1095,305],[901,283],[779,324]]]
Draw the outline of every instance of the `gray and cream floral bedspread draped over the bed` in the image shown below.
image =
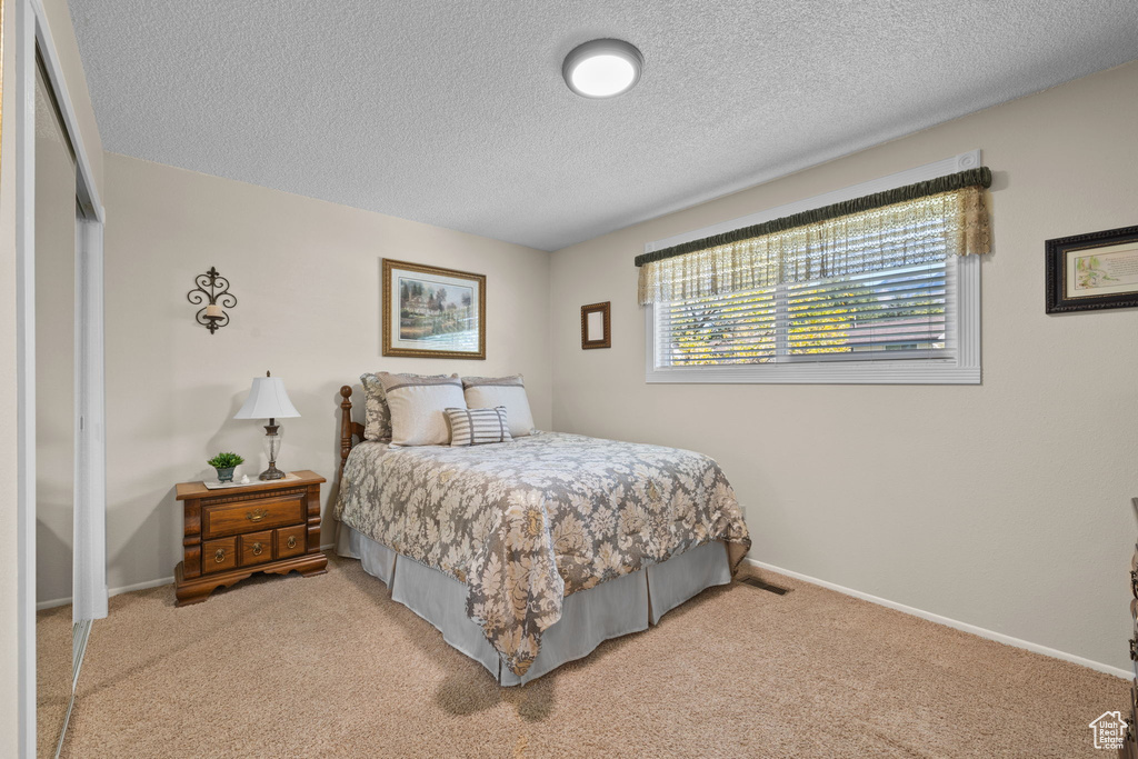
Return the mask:
[[691,451],[543,432],[472,447],[361,443],[337,517],[467,585],[467,614],[523,675],[566,595],[751,538],[723,470]]

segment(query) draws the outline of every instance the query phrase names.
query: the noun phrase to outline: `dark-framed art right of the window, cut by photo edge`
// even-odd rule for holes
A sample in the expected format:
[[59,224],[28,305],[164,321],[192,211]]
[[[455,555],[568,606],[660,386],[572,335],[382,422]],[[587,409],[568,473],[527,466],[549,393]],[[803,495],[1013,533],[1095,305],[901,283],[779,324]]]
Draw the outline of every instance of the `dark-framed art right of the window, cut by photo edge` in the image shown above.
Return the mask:
[[1138,306],[1138,226],[1046,242],[1047,313]]

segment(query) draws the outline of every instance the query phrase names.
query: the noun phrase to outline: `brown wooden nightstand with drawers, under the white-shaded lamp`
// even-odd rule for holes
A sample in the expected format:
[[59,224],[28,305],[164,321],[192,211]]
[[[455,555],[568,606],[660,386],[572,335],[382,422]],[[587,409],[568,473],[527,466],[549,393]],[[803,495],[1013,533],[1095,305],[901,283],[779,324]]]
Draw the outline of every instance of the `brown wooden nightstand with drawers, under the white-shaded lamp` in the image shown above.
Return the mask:
[[320,550],[320,485],[312,471],[297,479],[254,481],[211,490],[180,482],[182,561],[174,570],[178,605],[205,601],[214,588],[254,572],[323,575]]

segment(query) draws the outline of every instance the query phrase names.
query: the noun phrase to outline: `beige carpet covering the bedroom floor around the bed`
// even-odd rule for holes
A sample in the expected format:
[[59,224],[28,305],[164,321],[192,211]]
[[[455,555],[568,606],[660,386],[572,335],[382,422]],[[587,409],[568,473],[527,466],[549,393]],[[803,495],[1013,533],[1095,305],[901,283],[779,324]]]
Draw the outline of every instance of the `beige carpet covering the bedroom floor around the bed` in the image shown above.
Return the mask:
[[[358,562],[94,624],[66,757],[1105,757],[1124,680],[811,585],[707,591],[500,688]],[[1120,642],[1125,645],[1125,642]]]

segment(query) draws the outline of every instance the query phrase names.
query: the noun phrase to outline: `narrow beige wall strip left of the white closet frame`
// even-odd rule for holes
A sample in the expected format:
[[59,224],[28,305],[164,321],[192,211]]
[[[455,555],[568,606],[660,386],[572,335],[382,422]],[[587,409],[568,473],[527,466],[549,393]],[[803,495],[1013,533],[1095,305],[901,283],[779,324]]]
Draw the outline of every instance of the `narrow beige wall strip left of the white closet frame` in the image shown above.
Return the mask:
[[[3,82],[0,115],[0,545],[16,545],[16,105],[15,2],[3,2]],[[17,563],[0,552],[0,756],[18,746]]]

